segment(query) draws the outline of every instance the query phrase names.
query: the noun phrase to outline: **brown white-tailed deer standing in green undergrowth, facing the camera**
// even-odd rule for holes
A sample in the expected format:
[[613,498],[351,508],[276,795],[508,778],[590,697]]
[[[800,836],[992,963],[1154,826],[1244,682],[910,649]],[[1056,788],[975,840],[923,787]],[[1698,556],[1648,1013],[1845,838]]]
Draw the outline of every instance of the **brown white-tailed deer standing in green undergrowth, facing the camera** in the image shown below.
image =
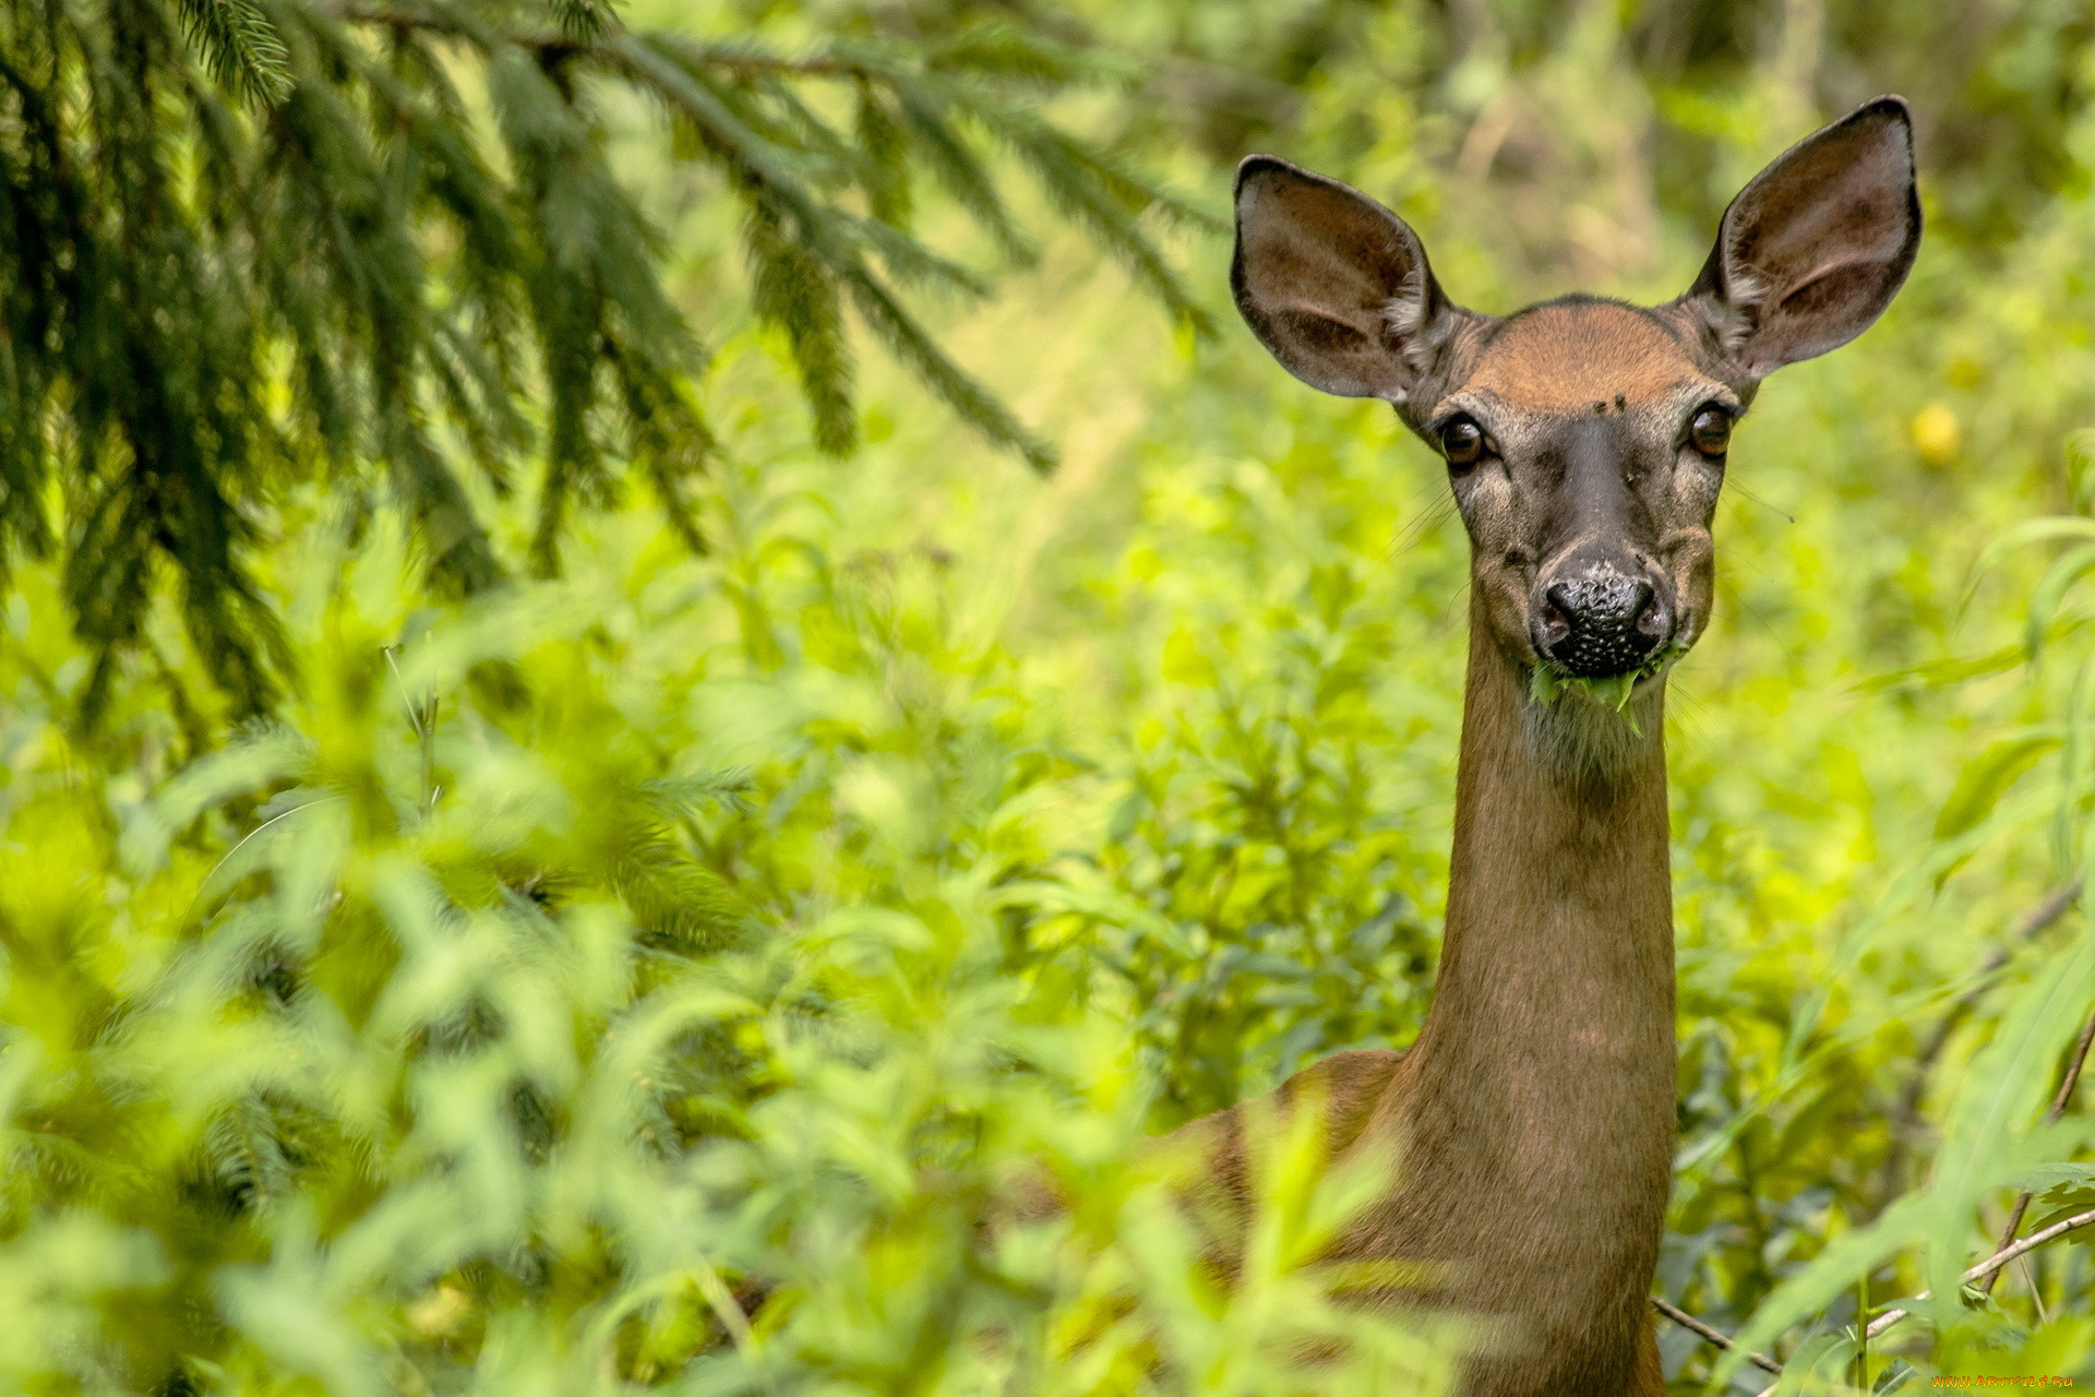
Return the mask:
[[[1479,1317],[1496,1353],[1471,1397],[1663,1393],[1666,672],[1710,624],[1733,423],[1764,375],[1862,333],[1919,239],[1896,96],[1756,176],[1689,293],[1655,308],[1569,295],[1477,314],[1383,205],[1265,155],[1238,170],[1244,320],[1305,383],[1395,404],[1448,459],[1471,538],[1433,1007],[1408,1054],[1341,1054],[1278,1093],[1320,1104],[1335,1154],[1389,1156],[1387,1194],[1332,1259],[1427,1263],[1429,1290],[1368,1303]],[[1226,1206],[1251,1194],[1240,1110],[1186,1127]]]

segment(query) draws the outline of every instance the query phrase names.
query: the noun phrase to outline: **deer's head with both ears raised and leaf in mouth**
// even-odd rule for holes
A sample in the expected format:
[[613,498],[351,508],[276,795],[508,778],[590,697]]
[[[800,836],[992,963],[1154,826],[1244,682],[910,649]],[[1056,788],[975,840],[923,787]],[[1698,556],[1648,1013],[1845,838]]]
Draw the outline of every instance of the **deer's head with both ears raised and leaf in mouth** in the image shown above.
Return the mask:
[[1762,170],[1701,276],[1663,306],[1567,295],[1510,316],[1464,310],[1402,218],[1270,155],[1236,174],[1230,281],[1295,377],[1385,398],[1446,457],[1473,614],[1544,681],[1529,735],[1605,769],[1640,739],[1634,708],[1544,697],[1561,681],[1613,681],[1619,700],[1655,700],[1710,624],[1733,423],[1762,377],[1860,335],[1919,241],[1911,119],[1879,96]]

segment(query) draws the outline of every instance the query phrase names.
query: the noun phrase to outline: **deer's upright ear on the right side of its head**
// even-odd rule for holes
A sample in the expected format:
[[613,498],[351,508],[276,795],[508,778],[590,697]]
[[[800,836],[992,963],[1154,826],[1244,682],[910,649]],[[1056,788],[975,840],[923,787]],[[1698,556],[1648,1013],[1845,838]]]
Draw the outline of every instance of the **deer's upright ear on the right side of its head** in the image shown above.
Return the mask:
[[1754,379],[1848,343],[1921,247],[1913,119],[1879,96],[1793,145],[1724,209],[1682,297]]

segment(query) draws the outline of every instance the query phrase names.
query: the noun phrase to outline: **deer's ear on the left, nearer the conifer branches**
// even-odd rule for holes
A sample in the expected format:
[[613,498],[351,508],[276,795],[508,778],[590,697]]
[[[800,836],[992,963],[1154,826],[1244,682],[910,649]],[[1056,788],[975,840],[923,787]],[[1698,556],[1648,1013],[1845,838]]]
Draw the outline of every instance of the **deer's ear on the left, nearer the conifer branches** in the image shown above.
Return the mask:
[[1341,398],[1404,402],[1448,308],[1402,218],[1272,155],[1236,168],[1236,310],[1288,373]]

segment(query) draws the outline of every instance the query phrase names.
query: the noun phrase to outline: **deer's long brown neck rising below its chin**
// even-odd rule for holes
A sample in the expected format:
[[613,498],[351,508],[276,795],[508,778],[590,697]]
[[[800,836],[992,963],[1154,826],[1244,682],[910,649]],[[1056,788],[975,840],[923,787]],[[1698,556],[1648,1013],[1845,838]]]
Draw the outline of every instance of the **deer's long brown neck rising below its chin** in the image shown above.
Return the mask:
[[1663,700],[1640,700],[1613,777],[1573,777],[1521,685],[1473,614],[1448,930],[1406,1062],[1406,1232],[1460,1271],[1467,1309],[1603,1378],[1649,1324],[1674,1141]]

